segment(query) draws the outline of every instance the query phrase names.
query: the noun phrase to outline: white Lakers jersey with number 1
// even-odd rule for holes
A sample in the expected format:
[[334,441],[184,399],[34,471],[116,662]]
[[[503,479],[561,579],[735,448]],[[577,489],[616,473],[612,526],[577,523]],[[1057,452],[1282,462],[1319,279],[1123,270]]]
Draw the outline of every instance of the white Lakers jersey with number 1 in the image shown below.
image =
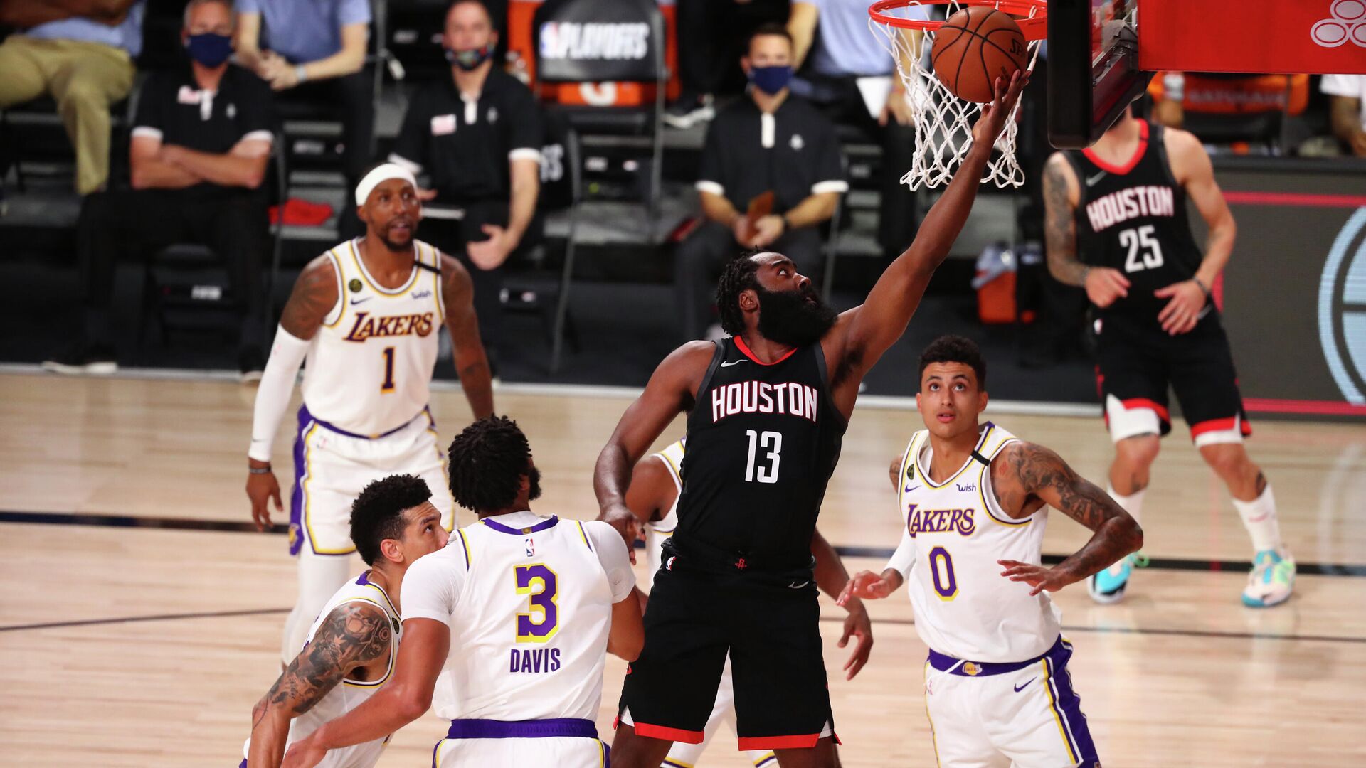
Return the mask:
[[413,421],[428,388],[445,305],[441,256],[413,241],[408,282],[384,288],[370,277],[358,241],[326,253],[337,273],[337,303],[313,338],[303,370],[303,404],[316,418],[362,437]]

